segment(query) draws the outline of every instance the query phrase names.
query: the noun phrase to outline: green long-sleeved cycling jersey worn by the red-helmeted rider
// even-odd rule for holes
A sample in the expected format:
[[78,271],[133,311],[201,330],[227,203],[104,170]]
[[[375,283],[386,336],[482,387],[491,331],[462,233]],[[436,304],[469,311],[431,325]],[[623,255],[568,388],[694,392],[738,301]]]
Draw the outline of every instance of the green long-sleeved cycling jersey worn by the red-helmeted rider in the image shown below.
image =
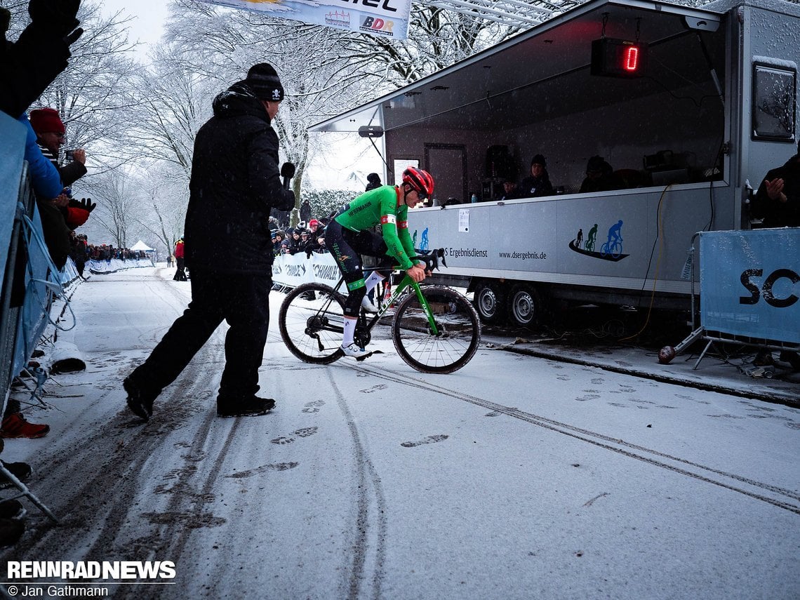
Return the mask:
[[394,259],[402,270],[409,270],[414,251],[414,242],[408,233],[408,206],[400,202],[397,186],[381,186],[364,192],[345,206],[336,222],[352,231],[365,231],[380,224],[386,254]]

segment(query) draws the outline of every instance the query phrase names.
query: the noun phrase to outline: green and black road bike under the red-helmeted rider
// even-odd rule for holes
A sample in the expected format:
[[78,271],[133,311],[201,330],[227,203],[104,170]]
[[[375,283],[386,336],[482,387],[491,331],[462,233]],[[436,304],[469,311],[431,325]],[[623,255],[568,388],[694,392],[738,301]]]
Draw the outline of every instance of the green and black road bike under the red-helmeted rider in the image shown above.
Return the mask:
[[[447,266],[444,250],[415,256],[426,271]],[[369,269],[365,269],[368,271]],[[278,314],[278,327],[286,347],[304,362],[330,364],[342,358],[345,295],[344,278],[334,287],[304,283],[286,294]],[[393,308],[394,307],[394,308]],[[446,286],[420,286],[405,274],[378,313],[358,315],[354,341],[366,348],[372,330],[390,318],[392,341],[400,357],[423,373],[452,373],[470,362],[481,341],[478,313],[463,294]],[[372,353],[370,353],[372,354]],[[363,360],[370,356],[358,358]]]

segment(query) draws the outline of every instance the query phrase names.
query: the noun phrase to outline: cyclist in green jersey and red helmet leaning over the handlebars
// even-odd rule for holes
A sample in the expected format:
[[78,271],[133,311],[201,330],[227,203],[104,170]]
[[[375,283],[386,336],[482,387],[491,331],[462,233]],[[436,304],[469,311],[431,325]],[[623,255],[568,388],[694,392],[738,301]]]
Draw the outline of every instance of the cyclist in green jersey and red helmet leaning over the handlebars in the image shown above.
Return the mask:
[[[415,282],[425,279],[423,263],[411,261],[414,242],[408,232],[408,209],[414,208],[434,192],[434,178],[414,166],[402,173],[400,186],[380,186],[355,198],[339,210],[326,229],[325,244],[334,255],[347,284],[348,296],[344,308],[342,352],[355,358],[368,354],[354,343],[358,310],[369,312],[377,308],[366,293],[382,282],[394,265],[399,265]],[[382,226],[382,236],[370,227]],[[374,270],[366,280],[360,254],[380,258],[381,271]]]

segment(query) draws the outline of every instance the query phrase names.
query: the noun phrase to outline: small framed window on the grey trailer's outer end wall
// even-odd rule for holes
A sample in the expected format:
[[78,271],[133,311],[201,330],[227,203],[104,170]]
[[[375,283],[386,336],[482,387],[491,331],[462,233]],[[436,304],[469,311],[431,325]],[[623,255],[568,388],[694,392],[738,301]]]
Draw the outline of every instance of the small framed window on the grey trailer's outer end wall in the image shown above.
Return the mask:
[[794,142],[797,71],[753,65],[753,138]]

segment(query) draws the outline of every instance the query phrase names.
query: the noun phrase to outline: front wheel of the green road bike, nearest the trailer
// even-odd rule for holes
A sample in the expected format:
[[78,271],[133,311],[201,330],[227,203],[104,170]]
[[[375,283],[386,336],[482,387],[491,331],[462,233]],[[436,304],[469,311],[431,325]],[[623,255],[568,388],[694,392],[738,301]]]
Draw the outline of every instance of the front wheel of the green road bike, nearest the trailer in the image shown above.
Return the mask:
[[434,334],[414,291],[394,313],[392,340],[400,357],[422,373],[452,373],[470,362],[481,341],[481,325],[472,303],[445,286],[422,286],[437,333]]

